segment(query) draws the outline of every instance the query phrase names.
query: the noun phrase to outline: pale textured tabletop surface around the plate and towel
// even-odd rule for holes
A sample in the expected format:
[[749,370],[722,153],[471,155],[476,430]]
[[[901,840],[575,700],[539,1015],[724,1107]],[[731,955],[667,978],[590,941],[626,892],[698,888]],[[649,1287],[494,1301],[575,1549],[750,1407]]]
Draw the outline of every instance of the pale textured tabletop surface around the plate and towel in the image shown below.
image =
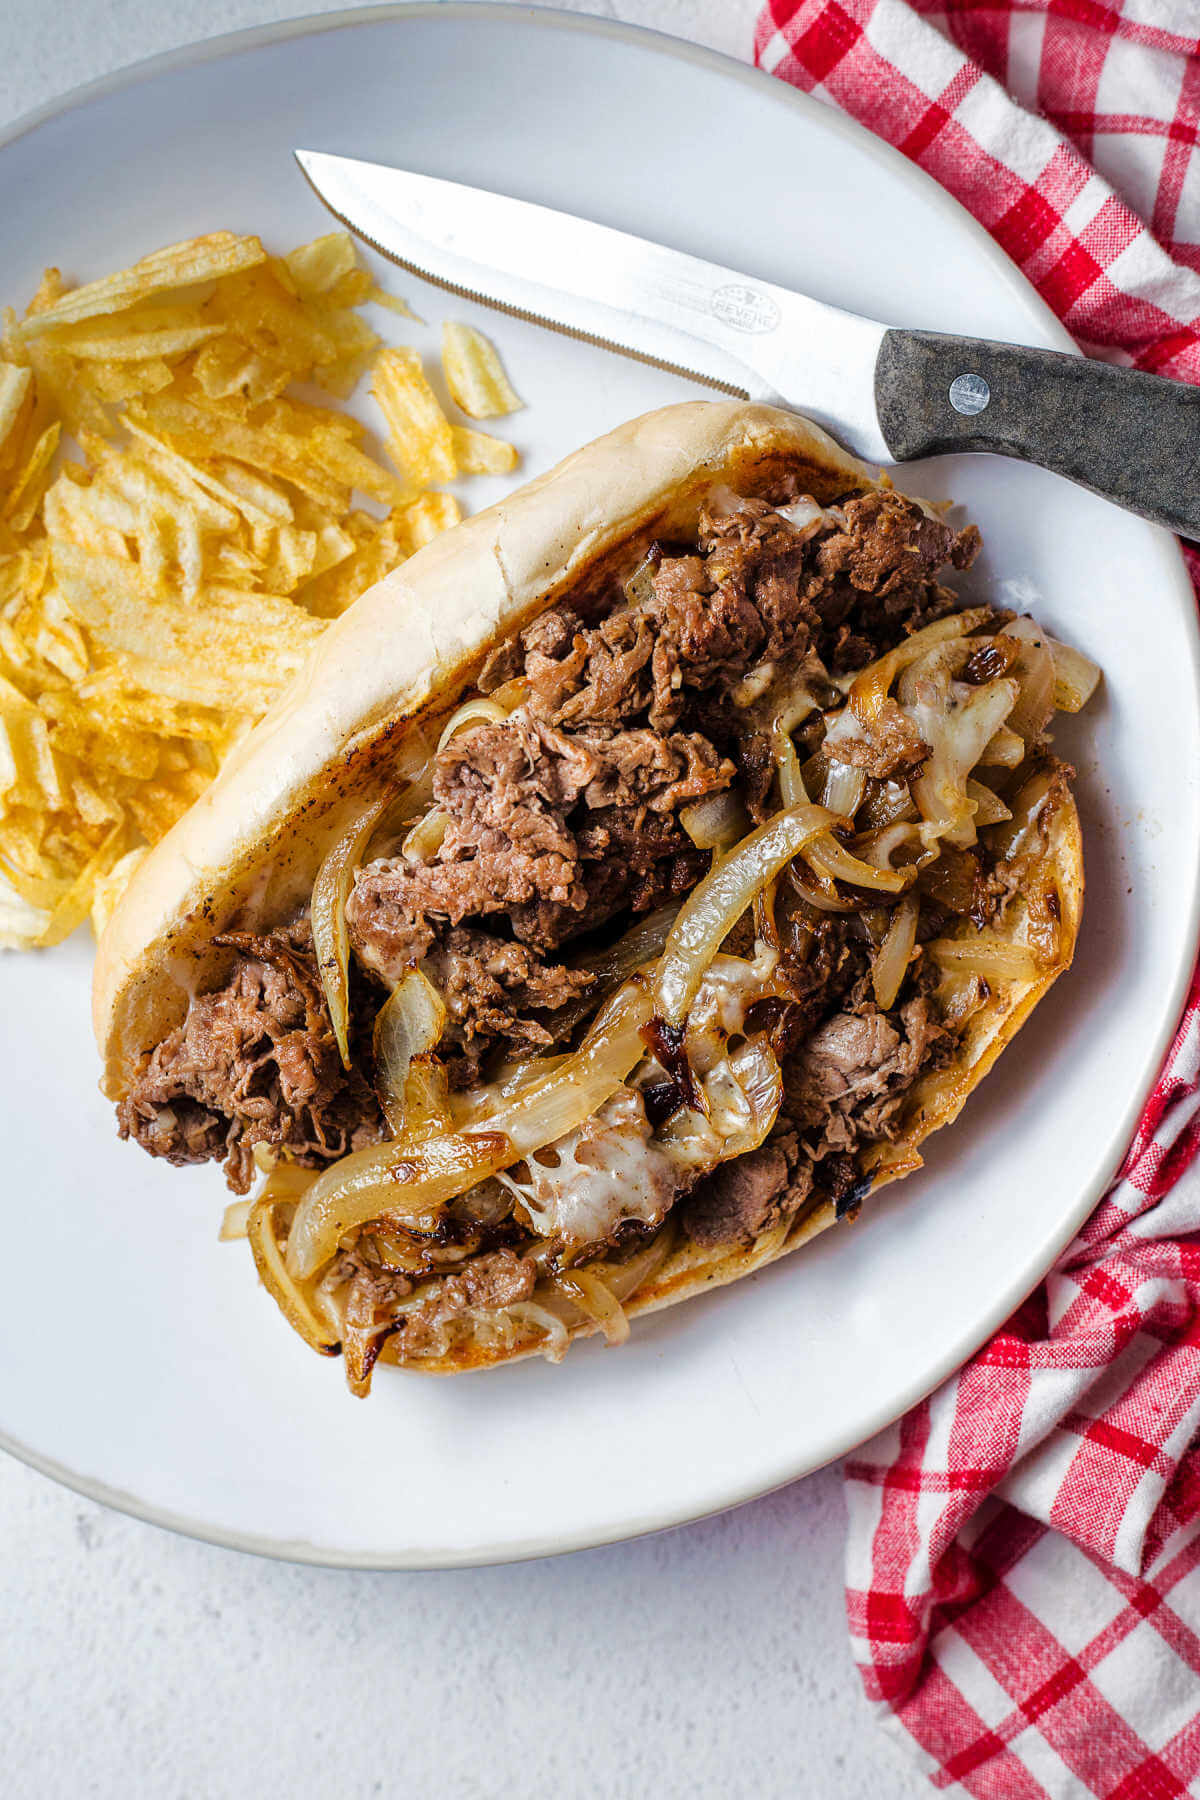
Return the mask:
[[[747,54],[756,0],[578,11]],[[4,0],[0,128],[139,56],[291,13]],[[0,1543],[9,1795],[927,1791],[858,1694],[833,1471],[613,1550],[354,1575],[187,1543],[0,1460]]]

